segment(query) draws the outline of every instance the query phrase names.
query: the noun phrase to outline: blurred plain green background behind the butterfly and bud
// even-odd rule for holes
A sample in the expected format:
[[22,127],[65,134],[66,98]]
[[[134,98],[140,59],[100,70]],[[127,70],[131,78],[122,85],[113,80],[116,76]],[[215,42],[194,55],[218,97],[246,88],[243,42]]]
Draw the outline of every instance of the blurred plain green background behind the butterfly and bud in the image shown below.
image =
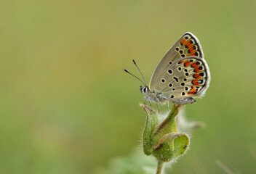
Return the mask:
[[256,1],[1,1],[0,173],[92,173],[140,146],[139,75],[186,31],[212,81],[171,173],[256,173]]

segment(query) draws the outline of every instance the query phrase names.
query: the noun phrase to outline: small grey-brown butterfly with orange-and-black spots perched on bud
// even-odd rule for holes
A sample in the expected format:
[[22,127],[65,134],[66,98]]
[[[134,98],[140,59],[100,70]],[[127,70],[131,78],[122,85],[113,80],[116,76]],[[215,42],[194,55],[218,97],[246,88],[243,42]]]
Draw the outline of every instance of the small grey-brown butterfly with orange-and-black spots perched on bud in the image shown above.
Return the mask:
[[[134,64],[137,67],[135,60]],[[140,71],[139,67],[137,69]],[[128,72],[124,69],[124,71]],[[132,75],[132,73],[128,72]],[[142,72],[140,74],[143,76]],[[135,75],[133,75],[137,78]],[[153,72],[149,86],[140,80],[145,87],[140,91],[146,100],[158,104],[172,101],[174,104],[192,104],[196,97],[204,96],[209,88],[210,72],[199,39],[192,33],[185,33],[161,59]]]

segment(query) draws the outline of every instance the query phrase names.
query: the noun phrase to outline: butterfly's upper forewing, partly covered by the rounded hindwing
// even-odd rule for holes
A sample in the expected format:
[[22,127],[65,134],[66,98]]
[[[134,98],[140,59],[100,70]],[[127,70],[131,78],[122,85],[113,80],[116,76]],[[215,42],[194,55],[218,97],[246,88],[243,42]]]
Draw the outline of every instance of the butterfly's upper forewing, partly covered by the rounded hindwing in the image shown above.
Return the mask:
[[156,70],[151,77],[149,88],[152,91],[161,91],[164,88],[163,83],[159,83],[159,78],[163,75],[164,70],[172,67],[172,64],[177,60],[185,57],[201,57],[204,59],[204,53],[201,48],[199,39],[192,33],[185,33],[165,54],[163,59],[157,65]]

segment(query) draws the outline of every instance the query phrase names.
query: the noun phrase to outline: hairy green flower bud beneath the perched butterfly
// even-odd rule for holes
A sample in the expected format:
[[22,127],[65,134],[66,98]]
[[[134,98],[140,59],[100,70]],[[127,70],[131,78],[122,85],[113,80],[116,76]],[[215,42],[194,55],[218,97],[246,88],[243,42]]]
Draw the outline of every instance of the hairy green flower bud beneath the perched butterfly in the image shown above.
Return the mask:
[[159,162],[172,162],[184,154],[189,146],[189,138],[185,133],[178,133],[176,116],[180,105],[174,105],[162,122],[157,112],[141,104],[145,109],[147,120],[143,132],[143,151],[153,155]]

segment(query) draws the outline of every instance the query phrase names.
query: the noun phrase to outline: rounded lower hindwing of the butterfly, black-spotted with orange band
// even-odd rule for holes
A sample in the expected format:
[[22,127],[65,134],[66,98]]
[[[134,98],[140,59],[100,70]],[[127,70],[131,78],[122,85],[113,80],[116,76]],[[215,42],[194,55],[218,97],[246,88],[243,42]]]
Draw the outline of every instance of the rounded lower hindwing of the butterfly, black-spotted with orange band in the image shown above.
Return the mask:
[[202,96],[209,87],[209,80],[207,62],[197,57],[186,57],[164,70],[158,82],[161,84],[159,92],[179,103],[180,99]]

